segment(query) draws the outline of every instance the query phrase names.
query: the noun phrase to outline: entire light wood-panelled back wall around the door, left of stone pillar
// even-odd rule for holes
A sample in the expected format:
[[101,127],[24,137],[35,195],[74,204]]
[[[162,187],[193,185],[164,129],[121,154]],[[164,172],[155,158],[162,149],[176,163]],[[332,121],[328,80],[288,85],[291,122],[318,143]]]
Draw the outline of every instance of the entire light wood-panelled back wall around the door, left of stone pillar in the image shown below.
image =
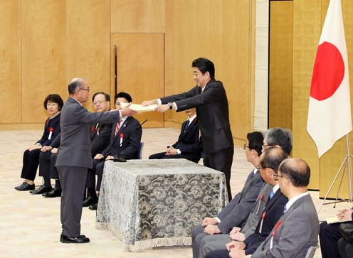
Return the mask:
[[[233,136],[243,142],[251,131],[255,1],[0,0],[0,4],[4,14],[0,101],[9,102],[11,97],[14,103],[11,111],[1,109],[0,129],[41,128],[46,119],[43,99],[53,92],[66,99],[72,77],[85,77],[91,93],[103,90],[112,95],[112,33],[165,33],[164,94],[193,87],[192,60],[209,58],[216,65],[216,78],[226,87]],[[142,86],[148,87],[136,85]],[[91,109],[90,102],[86,107]],[[165,114],[167,126],[179,127],[184,119],[184,114]]]

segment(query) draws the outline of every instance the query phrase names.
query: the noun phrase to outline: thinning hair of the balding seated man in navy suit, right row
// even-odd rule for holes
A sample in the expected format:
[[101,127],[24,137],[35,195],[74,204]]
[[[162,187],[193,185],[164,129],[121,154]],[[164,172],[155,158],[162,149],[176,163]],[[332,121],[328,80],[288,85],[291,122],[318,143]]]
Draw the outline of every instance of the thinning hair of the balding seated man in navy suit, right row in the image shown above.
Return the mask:
[[262,168],[272,168],[277,173],[280,163],[288,158],[288,154],[282,148],[270,147],[265,149],[260,159]]

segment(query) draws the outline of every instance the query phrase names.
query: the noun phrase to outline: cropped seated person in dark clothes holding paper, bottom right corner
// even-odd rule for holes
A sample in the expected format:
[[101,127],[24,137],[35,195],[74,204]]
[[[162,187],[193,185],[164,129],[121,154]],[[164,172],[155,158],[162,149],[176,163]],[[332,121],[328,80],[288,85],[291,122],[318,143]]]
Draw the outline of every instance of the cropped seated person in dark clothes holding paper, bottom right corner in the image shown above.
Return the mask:
[[[352,223],[353,210],[339,210],[339,212],[337,213],[337,217],[339,220],[342,220],[342,222],[350,221]],[[342,245],[342,249],[345,249],[345,247],[343,247],[343,244],[345,243],[344,240],[340,240],[342,238],[342,235],[339,233],[339,224],[341,223],[338,222],[333,224],[327,224],[326,221],[320,224],[319,237],[322,258],[340,257],[339,246],[337,245],[337,242],[339,241],[341,243],[340,245]]]

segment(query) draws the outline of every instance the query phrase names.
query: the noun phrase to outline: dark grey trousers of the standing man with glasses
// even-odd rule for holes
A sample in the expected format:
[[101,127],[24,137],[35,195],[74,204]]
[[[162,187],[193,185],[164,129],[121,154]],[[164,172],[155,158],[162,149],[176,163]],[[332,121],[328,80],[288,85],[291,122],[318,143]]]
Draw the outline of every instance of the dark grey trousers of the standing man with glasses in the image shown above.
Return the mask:
[[58,166],[61,182],[60,220],[63,234],[78,237],[81,230],[82,200],[88,168],[77,166]]

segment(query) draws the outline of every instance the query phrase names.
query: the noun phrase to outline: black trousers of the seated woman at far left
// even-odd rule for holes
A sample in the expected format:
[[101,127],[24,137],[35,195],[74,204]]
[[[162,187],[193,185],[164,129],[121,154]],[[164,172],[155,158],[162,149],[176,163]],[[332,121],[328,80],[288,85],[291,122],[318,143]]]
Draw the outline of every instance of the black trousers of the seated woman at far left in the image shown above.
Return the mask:
[[34,181],[39,165],[39,154],[41,154],[41,149],[33,149],[33,151],[26,149],[24,151],[21,178]]

